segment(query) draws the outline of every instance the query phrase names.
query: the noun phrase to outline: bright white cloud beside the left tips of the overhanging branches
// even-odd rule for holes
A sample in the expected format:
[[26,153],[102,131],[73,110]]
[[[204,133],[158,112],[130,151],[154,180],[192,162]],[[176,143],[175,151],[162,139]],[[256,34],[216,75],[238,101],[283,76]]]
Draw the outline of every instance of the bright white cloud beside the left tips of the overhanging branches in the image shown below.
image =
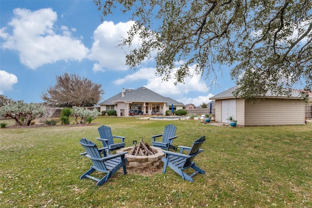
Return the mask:
[[[121,48],[118,44],[122,38],[127,37],[127,31],[133,25],[133,21],[119,22],[104,21],[94,31],[94,43],[92,45],[89,59],[98,62],[98,65],[105,70],[127,71],[126,54],[131,48]],[[137,46],[139,41],[134,39],[133,46]],[[94,69],[94,71],[96,71]]]

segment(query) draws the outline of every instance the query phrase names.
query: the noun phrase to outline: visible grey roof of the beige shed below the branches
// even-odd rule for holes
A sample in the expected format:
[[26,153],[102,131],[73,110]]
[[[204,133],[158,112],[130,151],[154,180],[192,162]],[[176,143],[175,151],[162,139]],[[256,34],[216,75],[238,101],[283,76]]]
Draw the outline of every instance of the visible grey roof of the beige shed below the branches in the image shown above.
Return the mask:
[[[210,97],[210,100],[218,100],[218,99],[233,99],[235,98],[235,96],[233,95],[234,90],[236,90],[238,88],[238,85],[223,91],[222,93],[219,93],[215,96]],[[295,98],[295,99],[300,99],[300,93],[298,91],[292,90],[292,94],[290,95],[290,97],[288,97],[287,95],[276,95],[273,94],[272,92],[267,92],[265,97],[267,98]]]

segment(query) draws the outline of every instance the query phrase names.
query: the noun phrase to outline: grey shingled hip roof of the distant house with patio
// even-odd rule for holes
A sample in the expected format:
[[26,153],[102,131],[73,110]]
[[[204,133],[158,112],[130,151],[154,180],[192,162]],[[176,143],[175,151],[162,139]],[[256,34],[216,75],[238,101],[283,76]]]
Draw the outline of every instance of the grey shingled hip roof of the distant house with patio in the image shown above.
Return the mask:
[[182,103],[170,97],[159,95],[146,87],[140,87],[137,90],[128,89],[124,92],[124,96],[122,96],[122,92],[120,92],[117,95],[101,102],[100,105],[116,105],[118,102],[165,102],[167,105],[174,104],[184,106]]

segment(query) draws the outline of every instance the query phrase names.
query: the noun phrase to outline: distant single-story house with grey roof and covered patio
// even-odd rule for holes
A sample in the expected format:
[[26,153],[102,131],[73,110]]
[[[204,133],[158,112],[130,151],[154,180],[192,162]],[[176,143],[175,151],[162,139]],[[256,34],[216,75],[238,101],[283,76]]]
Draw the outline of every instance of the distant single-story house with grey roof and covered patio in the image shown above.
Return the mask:
[[116,110],[117,116],[129,116],[134,114],[165,115],[166,111],[183,109],[184,104],[170,98],[159,95],[146,87],[137,90],[125,90],[113,97],[101,102],[100,112]]

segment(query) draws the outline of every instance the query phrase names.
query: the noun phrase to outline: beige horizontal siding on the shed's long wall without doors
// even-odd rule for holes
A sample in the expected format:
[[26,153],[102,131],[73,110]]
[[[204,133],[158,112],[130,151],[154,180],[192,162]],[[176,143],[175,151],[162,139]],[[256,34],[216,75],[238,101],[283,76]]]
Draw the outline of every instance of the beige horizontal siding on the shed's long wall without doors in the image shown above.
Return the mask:
[[245,104],[245,125],[302,125],[304,102],[297,99],[264,99]]

